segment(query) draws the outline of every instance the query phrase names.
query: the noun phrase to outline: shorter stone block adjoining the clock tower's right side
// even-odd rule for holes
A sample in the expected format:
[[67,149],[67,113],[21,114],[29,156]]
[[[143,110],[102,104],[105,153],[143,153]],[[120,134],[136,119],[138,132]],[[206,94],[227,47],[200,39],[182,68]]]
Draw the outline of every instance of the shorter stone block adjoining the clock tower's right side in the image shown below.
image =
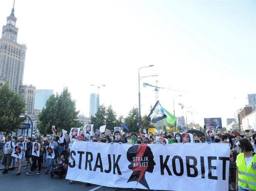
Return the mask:
[[26,103],[26,114],[34,114],[35,86],[22,85],[20,87],[20,96]]

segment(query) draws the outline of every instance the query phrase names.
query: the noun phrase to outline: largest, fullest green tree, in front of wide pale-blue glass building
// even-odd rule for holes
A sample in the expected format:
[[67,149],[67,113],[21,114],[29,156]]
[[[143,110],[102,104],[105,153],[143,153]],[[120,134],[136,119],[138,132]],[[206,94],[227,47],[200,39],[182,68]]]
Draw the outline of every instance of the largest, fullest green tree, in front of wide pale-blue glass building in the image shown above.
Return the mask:
[[75,100],[71,99],[71,93],[66,87],[60,95],[57,93],[56,96],[52,95],[47,100],[46,107],[38,115],[38,130],[40,133],[51,133],[53,125],[56,130],[80,127],[82,123],[77,120],[78,113]]

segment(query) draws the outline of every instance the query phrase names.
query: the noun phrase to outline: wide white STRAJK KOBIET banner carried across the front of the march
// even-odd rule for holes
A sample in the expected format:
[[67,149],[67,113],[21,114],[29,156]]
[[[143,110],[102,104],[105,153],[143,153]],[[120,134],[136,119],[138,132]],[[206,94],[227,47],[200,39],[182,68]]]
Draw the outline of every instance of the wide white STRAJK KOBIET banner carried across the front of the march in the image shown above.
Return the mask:
[[229,151],[228,144],[77,141],[66,179],[119,188],[227,191]]

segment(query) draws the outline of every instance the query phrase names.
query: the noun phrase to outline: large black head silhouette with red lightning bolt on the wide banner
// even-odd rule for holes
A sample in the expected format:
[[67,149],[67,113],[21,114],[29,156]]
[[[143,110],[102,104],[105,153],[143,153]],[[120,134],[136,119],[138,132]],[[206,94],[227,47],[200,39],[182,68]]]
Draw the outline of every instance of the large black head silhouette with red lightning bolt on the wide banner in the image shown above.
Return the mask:
[[145,172],[152,173],[156,165],[151,148],[147,144],[134,145],[127,151],[127,160],[131,163],[128,168],[133,171],[127,182],[136,181],[149,189]]

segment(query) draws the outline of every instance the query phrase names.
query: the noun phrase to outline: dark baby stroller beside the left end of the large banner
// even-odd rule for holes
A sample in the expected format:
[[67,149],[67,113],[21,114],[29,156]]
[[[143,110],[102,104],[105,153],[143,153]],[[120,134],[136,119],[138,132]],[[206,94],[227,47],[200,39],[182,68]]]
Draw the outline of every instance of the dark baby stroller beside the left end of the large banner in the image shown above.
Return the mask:
[[56,162],[53,163],[53,169],[51,170],[51,178],[53,178],[55,174],[62,179],[62,177],[67,174],[69,154],[68,151],[63,150],[60,158],[56,158]]

